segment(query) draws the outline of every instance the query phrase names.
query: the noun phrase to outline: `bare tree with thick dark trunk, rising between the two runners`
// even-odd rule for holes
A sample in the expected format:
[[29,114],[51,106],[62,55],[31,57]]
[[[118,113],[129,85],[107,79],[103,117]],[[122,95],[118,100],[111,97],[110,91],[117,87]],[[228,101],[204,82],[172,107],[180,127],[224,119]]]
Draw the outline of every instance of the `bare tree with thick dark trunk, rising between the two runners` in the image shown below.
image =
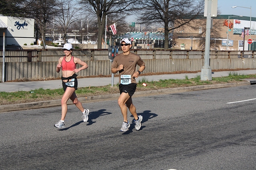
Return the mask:
[[109,14],[122,14],[126,17],[130,11],[136,10],[137,0],[81,0],[88,12],[97,16],[98,25],[98,48],[102,48],[102,37],[106,23],[106,16]]

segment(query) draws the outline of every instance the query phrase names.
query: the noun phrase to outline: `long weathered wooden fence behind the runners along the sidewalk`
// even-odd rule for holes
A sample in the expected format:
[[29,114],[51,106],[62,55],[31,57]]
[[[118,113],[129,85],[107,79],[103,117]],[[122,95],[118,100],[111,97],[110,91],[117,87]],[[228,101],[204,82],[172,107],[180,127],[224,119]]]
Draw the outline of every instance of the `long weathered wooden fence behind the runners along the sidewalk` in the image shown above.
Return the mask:
[[[202,50],[155,50],[133,49],[146,64],[147,72],[174,72],[180,70],[198,71],[204,66]],[[2,51],[0,51],[0,80],[2,81]],[[122,53],[122,51],[119,51]],[[107,49],[79,49],[72,52],[88,64],[78,76],[110,75],[111,62]],[[62,74],[56,72],[58,59],[63,56],[61,50],[9,50],[5,53],[5,81],[23,78],[56,78]],[[212,69],[250,68],[256,69],[254,51],[210,51]]]

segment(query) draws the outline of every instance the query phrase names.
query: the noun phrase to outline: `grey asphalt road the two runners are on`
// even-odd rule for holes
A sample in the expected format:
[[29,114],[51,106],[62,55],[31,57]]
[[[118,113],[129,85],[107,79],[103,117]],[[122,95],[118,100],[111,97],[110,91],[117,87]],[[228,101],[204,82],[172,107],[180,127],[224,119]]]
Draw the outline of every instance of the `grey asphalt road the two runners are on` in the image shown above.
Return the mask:
[[0,169],[256,169],[255,91],[250,85],[133,98],[142,128],[131,124],[125,133],[116,100],[83,104],[90,109],[85,123],[68,106],[64,129],[54,127],[61,107],[0,113]]

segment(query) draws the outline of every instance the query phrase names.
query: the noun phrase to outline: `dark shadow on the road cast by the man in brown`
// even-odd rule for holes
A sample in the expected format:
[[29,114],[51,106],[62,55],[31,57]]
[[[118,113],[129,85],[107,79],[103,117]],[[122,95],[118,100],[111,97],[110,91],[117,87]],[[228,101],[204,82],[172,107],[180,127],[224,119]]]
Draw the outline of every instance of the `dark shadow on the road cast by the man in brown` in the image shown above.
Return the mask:
[[[149,119],[152,119],[152,118],[158,116],[156,113],[150,113],[150,112],[151,112],[150,110],[145,110],[145,111],[143,111],[143,113],[137,113],[138,115],[142,115],[141,123],[144,123],[144,122],[148,121]],[[133,116],[131,115],[130,117],[133,117]],[[144,127],[146,127],[146,126],[141,126],[140,130],[143,129]],[[129,130],[122,134],[123,135],[130,134],[134,128],[135,128],[135,123],[134,123],[134,119],[133,119],[132,122],[130,123]]]

